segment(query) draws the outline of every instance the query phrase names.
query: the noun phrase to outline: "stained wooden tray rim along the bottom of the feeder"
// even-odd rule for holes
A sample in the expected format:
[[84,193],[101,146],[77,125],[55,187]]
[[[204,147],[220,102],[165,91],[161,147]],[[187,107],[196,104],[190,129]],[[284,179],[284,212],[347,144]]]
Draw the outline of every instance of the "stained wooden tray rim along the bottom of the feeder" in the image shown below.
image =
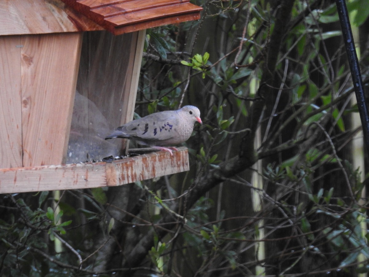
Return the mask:
[[0,169],[0,193],[124,185],[189,170],[188,150],[159,151],[111,163],[45,165]]

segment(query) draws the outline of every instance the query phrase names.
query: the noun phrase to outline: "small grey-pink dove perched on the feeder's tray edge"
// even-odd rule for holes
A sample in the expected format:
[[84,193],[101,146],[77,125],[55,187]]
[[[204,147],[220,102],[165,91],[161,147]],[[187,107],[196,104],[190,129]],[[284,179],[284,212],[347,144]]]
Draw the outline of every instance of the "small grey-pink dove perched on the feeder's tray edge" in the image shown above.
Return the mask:
[[105,139],[120,137],[137,141],[151,148],[168,151],[173,155],[176,145],[186,141],[192,134],[193,124],[201,122],[200,110],[195,106],[184,106],[182,109],[152,113],[148,116],[132,120],[118,127]]

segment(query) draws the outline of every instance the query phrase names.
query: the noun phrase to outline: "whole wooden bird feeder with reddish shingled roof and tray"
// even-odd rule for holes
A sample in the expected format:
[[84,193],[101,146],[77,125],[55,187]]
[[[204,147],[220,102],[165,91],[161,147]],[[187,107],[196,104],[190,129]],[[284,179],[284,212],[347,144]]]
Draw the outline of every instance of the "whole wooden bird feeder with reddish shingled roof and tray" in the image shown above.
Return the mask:
[[132,120],[145,29],[197,20],[200,11],[188,0],[1,1],[0,193],[115,186],[189,170],[185,147],[173,157],[81,161],[122,147],[103,136]]

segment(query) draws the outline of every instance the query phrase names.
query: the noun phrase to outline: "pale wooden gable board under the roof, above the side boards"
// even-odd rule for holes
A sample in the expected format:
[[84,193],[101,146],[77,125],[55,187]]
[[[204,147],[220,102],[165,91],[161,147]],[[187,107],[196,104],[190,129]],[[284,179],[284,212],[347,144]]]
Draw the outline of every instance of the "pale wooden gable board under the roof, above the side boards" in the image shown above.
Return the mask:
[[0,35],[103,30],[61,0],[0,1]]

